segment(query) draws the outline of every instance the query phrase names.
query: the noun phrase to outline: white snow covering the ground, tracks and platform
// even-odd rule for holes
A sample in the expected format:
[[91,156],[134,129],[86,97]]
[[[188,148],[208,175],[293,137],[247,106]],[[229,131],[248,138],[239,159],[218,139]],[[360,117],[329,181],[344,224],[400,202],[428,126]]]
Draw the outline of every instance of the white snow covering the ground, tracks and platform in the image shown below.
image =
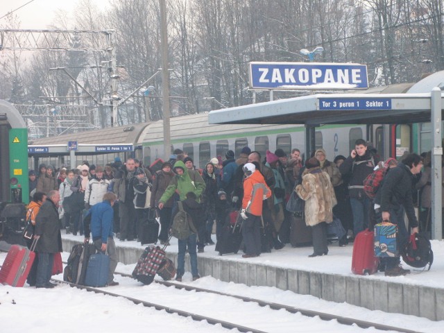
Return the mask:
[[[83,239],[80,236],[64,235],[72,239]],[[128,248],[142,247],[135,241],[120,242],[117,246]],[[177,240],[171,241],[171,246],[167,250],[175,252]],[[312,253],[311,247],[291,248],[286,246],[279,251],[264,253],[260,257],[243,259],[238,255],[224,255],[219,257],[214,252],[214,246],[207,246],[205,253],[199,254],[205,257],[218,257],[224,260],[237,260],[257,262],[279,267],[298,268],[309,271],[320,271],[325,273],[336,273],[341,275],[351,275],[351,254],[352,244],[345,248],[339,248],[337,244],[329,246],[330,252],[325,257],[309,258]],[[370,279],[399,281],[404,284],[419,284],[429,287],[444,287],[442,276],[444,273],[444,242],[432,241],[432,248],[435,254],[435,261],[432,270],[429,272],[412,271],[405,277],[388,278],[383,273],[370,275]],[[65,249],[69,250],[69,249]],[[67,259],[69,253],[63,253],[63,259]],[[0,262],[3,262],[6,253],[0,253]],[[135,264],[123,265],[119,263],[117,271],[131,273]],[[406,266],[404,264],[404,266]],[[56,278],[62,278],[58,275]],[[158,278],[158,277],[157,277]],[[192,302],[194,311],[203,310],[209,316],[221,318],[220,311],[212,311],[211,302],[203,293],[189,293],[186,291],[174,291],[171,295],[165,296],[166,288],[160,284],[142,286],[139,282],[130,278],[123,278],[116,275],[116,280],[121,283],[118,287],[107,288],[113,293],[126,293],[135,298],[144,298],[151,302],[164,302],[170,307],[175,307],[180,303]],[[370,311],[347,303],[334,303],[320,300],[314,296],[298,295],[291,291],[282,291],[272,287],[247,287],[244,284],[234,284],[232,282],[221,282],[212,277],[203,277],[196,282],[191,282],[191,274],[184,275],[184,282],[194,284],[205,289],[215,289],[226,293],[239,294],[268,300],[271,302],[311,309],[315,311],[325,311],[331,314],[359,318],[363,321],[373,321],[385,325],[400,326],[418,332],[438,333],[444,332],[444,321],[434,322],[426,318],[406,316],[403,314],[389,314],[383,311]],[[14,300],[15,304],[12,304]],[[230,301],[231,302],[231,301]],[[234,307],[228,302],[228,306]],[[248,311],[241,311],[241,317],[257,318],[259,307],[252,306]],[[262,311],[262,310],[261,310]],[[260,320],[264,322],[264,330],[274,332],[358,332],[359,327],[345,327],[336,321],[324,322],[318,318],[306,318],[300,314],[293,315],[297,318],[296,325],[290,325],[284,311],[260,312]],[[223,320],[227,320],[224,318]],[[18,320],[17,320],[18,319]],[[278,326],[281,325],[281,326]],[[112,298],[109,296],[96,295],[67,286],[58,286],[55,289],[35,289],[31,287],[12,288],[0,285],[0,327],[1,332],[79,332],[80,330],[98,330],[99,332],[145,332],[146,330],[162,330],[166,332],[226,332],[221,326],[212,326],[206,322],[196,322],[189,318],[182,318],[176,315],[167,314],[164,311],[155,311],[151,308],[133,305],[132,302],[123,298]],[[60,331],[59,331],[60,330]],[[375,332],[373,329],[365,332]]]

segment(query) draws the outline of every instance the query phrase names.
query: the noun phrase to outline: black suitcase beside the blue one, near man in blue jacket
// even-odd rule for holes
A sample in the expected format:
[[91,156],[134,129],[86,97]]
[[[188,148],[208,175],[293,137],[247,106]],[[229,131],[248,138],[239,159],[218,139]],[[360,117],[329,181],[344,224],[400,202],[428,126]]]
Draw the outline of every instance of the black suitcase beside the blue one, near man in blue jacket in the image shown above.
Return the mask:
[[93,244],[77,244],[71,249],[67,266],[63,270],[63,280],[75,284],[85,284],[89,257],[96,253]]

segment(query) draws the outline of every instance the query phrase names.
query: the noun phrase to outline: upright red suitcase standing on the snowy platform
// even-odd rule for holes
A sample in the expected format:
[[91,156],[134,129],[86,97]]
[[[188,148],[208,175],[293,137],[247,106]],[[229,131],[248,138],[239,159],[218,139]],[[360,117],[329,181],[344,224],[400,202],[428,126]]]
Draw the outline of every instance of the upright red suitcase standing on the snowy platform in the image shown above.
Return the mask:
[[353,243],[352,272],[357,275],[371,275],[376,273],[378,264],[373,231],[366,229],[359,232]]

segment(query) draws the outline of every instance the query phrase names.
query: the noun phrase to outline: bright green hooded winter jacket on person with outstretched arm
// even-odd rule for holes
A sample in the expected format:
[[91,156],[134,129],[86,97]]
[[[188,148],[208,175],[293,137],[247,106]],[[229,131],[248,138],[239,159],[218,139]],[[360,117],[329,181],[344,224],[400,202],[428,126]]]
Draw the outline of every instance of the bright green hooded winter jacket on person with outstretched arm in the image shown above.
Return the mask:
[[167,203],[169,198],[171,198],[176,191],[180,196],[180,201],[186,199],[188,192],[194,192],[194,194],[196,194],[197,201],[200,202],[200,195],[205,190],[205,182],[198,171],[188,170],[182,161],[178,161],[174,164],[173,170],[176,168],[182,168],[185,172],[181,176],[176,175],[173,179],[171,179],[171,182],[169,182],[164,194],[162,194],[162,197],[160,197],[159,203]]

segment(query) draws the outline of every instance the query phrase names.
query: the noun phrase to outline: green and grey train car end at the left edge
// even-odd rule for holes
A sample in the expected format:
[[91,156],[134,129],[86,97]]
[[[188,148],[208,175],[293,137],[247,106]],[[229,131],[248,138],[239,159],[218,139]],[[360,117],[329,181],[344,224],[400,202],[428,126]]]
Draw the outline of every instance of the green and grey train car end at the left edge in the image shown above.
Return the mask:
[[28,129],[17,109],[0,100],[0,236],[21,232],[28,188]]

